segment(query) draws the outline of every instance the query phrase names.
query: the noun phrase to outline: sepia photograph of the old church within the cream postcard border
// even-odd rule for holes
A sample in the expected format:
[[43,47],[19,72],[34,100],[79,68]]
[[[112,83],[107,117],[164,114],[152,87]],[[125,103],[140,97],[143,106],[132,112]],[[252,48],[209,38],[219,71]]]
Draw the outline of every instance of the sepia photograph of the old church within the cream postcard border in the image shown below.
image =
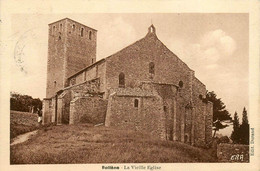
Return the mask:
[[11,165],[250,162],[248,13],[11,18]]

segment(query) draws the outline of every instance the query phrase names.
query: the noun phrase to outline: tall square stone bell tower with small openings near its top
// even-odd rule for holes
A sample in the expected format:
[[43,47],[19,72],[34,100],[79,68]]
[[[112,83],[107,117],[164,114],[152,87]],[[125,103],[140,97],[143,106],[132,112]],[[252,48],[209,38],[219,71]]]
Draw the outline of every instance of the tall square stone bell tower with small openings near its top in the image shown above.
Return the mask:
[[96,62],[97,30],[65,18],[49,24],[46,97],[67,86],[67,78]]

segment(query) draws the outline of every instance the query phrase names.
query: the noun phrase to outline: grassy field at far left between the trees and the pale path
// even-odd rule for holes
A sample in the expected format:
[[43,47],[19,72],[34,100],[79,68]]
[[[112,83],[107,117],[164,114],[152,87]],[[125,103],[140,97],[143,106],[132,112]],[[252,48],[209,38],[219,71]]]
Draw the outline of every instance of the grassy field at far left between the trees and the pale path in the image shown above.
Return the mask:
[[38,118],[37,114],[11,111],[10,112],[11,139],[20,134],[38,129],[37,118]]

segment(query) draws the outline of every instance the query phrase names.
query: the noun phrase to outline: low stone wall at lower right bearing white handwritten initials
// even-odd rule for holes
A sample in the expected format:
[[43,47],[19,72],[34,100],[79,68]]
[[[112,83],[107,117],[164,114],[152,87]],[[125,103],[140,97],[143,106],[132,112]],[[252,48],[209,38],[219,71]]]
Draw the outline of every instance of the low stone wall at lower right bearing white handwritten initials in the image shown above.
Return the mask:
[[218,144],[217,157],[219,162],[249,162],[249,146],[241,144]]

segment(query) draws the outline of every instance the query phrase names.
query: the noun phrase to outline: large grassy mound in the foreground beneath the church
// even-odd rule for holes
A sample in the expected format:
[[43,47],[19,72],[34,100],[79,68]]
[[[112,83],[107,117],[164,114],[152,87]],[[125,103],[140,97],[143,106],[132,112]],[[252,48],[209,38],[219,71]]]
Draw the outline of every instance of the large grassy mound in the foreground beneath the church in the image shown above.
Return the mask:
[[31,140],[11,147],[11,164],[214,161],[205,149],[103,126],[47,127]]

